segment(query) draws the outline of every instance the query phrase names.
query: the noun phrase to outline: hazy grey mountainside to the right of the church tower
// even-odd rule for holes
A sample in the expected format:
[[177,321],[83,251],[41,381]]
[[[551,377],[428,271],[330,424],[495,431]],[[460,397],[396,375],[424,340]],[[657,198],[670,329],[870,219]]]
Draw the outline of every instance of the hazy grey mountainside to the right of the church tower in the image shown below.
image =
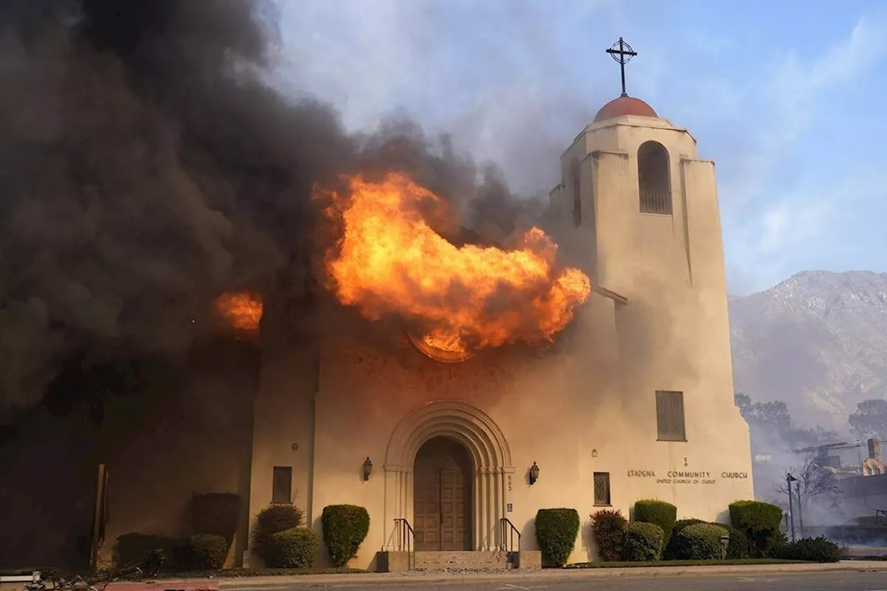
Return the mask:
[[752,400],[844,433],[858,402],[887,398],[887,273],[799,272],[729,305],[735,389]]

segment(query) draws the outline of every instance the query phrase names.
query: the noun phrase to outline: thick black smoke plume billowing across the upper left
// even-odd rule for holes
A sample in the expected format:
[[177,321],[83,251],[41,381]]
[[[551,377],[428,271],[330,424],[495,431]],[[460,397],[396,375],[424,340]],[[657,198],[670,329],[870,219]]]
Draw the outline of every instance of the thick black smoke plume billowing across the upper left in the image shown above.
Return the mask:
[[0,416],[70,359],[176,355],[220,293],[310,266],[311,187],[339,173],[405,169],[514,230],[519,201],[446,138],[349,135],[274,91],[277,20],[263,0],[0,0]]

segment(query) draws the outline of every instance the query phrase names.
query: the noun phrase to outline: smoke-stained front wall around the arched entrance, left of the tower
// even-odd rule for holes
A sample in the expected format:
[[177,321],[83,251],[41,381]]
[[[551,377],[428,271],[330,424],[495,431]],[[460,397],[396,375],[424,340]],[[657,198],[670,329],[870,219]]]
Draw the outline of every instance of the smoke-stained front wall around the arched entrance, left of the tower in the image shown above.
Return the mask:
[[[612,303],[594,296],[570,343],[538,353],[520,348],[488,351],[456,365],[426,358],[412,343],[390,347],[357,341],[327,342],[321,361],[317,398],[313,510],[315,525],[322,509],[334,503],[363,505],[373,516],[371,531],[353,564],[371,565],[389,539],[393,523],[385,515],[384,462],[391,434],[406,414],[431,401],[459,400],[475,406],[497,423],[514,463],[508,516],[522,530],[528,548],[535,540],[532,519],[538,508],[590,508],[591,458],[622,455],[616,384],[607,372],[612,353],[591,351],[589,334],[612,341]],[[596,326],[595,326],[596,325]],[[584,330],[585,329],[585,330]],[[610,351],[612,347],[608,347]],[[580,354],[584,351],[587,355]],[[556,394],[556,395],[555,395]],[[373,460],[373,477],[362,479],[365,457]],[[537,461],[542,475],[530,486],[527,472]],[[412,512],[412,508],[409,509]],[[493,528],[496,525],[493,524]],[[494,532],[488,532],[494,535]],[[580,545],[581,552],[581,545]],[[586,558],[587,559],[587,558]]]

